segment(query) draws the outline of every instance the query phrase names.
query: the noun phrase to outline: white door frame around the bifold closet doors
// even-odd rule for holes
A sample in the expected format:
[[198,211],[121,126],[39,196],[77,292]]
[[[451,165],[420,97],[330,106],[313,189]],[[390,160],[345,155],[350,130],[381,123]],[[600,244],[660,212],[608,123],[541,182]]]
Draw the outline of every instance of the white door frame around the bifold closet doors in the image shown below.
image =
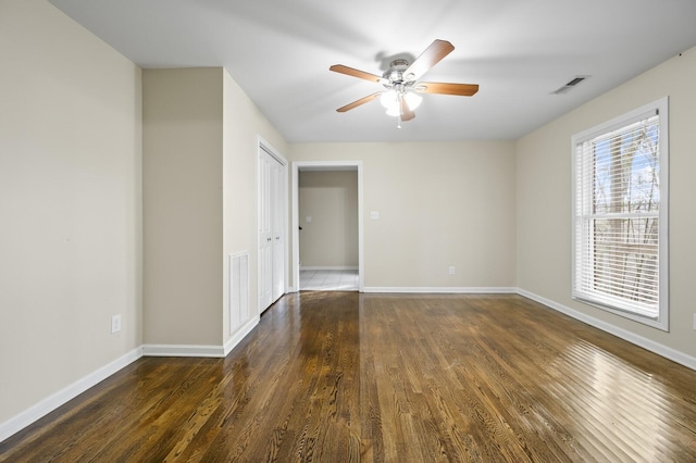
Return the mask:
[[[265,152],[274,158],[281,164],[281,217],[283,223],[281,224],[282,233],[287,236],[287,227],[288,227],[288,214],[287,214],[287,168],[288,162],[287,160],[275,149],[271,143],[265,141],[260,135],[257,136],[257,227],[256,227],[256,239],[257,239],[257,293],[254,295],[256,301],[259,301],[259,284],[261,281],[261,265],[259,262],[259,249],[261,247],[261,241],[259,239],[259,224],[261,223],[261,182],[259,179],[259,175],[261,173],[261,153]],[[289,261],[289,247],[287,239],[284,237],[283,239],[283,262],[284,262],[284,274],[285,278],[283,281],[283,293],[288,292],[288,261]],[[274,301],[272,301],[273,303]],[[265,308],[264,308],[265,309]],[[259,314],[263,312],[264,309],[258,308]]]

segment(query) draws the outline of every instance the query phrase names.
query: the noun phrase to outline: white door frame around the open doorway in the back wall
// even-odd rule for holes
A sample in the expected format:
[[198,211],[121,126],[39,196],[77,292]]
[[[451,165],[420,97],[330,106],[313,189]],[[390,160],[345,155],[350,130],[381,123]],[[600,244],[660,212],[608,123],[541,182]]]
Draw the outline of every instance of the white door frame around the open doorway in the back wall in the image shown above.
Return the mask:
[[357,171],[358,172],[358,290],[364,290],[363,213],[362,213],[362,161],[296,161],[293,163],[293,284],[300,290],[300,235],[299,235],[299,173],[300,171]]

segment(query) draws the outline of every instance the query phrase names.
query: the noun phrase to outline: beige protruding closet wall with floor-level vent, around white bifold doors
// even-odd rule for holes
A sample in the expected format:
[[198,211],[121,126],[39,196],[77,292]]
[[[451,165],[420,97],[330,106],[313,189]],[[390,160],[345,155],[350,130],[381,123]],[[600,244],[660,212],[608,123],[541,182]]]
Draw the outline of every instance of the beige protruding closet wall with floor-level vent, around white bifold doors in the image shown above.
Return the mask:
[[257,292],[259,137],[285,141],[222,67],[144,71],[145,343],[223,346],[228,255]]

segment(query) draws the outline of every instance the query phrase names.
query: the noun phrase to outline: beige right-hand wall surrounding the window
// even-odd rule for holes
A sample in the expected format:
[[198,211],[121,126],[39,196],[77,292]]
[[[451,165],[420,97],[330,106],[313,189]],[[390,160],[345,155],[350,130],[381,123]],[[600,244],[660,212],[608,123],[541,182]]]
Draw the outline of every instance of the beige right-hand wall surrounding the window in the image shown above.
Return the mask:
[[[696,356],[696,49],[523,137],[518,152],[518,284],[523,290],[622,330]],[[571,300],[571,149],[575,133],[664,96],[670,98],[670,333]]]

